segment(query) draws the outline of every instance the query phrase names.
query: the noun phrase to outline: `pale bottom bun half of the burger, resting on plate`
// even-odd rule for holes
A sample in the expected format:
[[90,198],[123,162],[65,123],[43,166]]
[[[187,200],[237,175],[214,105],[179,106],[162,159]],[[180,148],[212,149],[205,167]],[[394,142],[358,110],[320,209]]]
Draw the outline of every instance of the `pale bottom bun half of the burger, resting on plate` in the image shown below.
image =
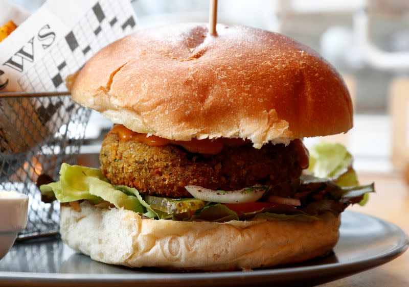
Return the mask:
[[326,255],[339,217],[319,220],[181,222],[143,219],[133,211],[88,202],[61,206],[62,240],[108,264],[181,270],[249,270]]

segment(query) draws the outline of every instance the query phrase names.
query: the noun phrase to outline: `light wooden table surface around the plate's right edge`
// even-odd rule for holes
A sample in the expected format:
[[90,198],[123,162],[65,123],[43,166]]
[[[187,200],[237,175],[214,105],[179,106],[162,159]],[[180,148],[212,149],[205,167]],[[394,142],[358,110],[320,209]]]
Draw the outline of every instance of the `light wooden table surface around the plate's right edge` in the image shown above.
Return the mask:
[[[364,207],[352,206],[349,210],[372,214],[378,218],[395,223],[409,234],[409,186],[400,174],[360,174],[362,184],[375,182],[376,194]],[[409,251],[387,264],[353,276],[320,285],[338,286],[409,286]]]

